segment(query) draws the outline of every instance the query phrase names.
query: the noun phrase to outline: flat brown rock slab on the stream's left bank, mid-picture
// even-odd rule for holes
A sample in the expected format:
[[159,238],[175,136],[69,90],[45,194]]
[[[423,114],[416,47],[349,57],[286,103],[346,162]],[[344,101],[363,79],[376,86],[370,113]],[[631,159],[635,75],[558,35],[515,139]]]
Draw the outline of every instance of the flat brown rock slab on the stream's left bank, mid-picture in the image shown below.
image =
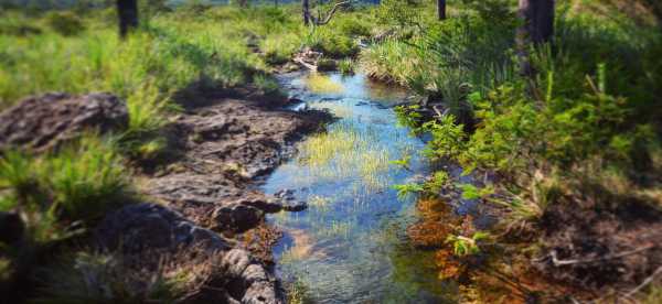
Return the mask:
[[256,227],[265,214],[302,210],[305,204],[265,195],[253,183],[290,154],[293,140],[328,119],[323,112],[280,110],[259,100],[210,101],[175,121],[185,156],[150,177],[147,192],[227,236]]

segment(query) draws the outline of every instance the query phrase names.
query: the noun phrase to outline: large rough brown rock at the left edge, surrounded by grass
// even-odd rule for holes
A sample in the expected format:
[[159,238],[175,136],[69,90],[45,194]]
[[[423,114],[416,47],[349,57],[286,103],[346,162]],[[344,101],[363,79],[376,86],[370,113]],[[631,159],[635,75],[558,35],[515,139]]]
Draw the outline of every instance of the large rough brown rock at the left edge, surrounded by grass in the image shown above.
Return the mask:
[[110,94],[51,93],[29,97],[0,113],[0,149],[15,146],[41,152],[74,139],[83,130],[121,130],[128,121],[125,102]]

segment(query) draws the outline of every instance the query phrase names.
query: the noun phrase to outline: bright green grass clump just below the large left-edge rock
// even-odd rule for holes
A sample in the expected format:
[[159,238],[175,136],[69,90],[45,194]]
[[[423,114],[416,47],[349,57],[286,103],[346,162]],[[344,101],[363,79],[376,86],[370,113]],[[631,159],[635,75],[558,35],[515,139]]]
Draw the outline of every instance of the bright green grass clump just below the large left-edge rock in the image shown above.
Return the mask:
[[34,231],[35,239],[47,241],[58,234],[44,224],[92,220],[127,203],[127,171],[114,141],[95,135],[58,153],[32,156],[9,151],[0,160],[0,184],[11,189],[4,196],[11,203],[3,204],[3,210],[25,211],[33,219],[29,228],[41,228]]

